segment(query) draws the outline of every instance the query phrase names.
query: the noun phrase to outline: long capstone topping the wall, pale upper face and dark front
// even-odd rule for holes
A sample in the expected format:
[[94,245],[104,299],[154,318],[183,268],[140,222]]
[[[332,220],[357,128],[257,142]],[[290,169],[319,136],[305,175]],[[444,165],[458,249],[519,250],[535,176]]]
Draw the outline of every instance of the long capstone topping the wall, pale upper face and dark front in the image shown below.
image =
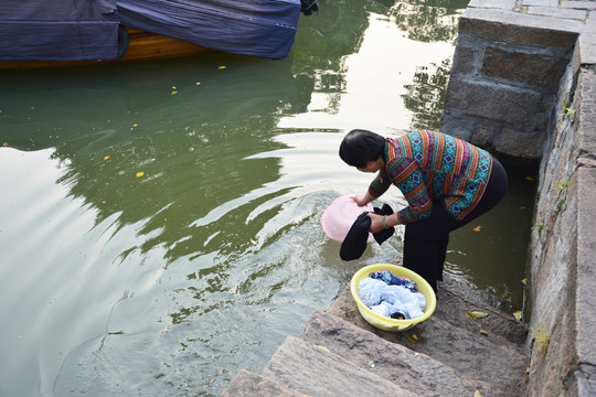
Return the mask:
[[499,42],[571,50],[584,30],[581,21],[468,8],[459,29]]

